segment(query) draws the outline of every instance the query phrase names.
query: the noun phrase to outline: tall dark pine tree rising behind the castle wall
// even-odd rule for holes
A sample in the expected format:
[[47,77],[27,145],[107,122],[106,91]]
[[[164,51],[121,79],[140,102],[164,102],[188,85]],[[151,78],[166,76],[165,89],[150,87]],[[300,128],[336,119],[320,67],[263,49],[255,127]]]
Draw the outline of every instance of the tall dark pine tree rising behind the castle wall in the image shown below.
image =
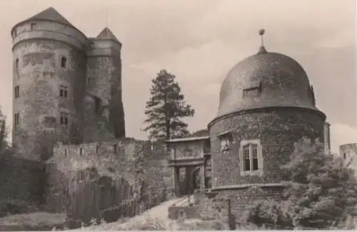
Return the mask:
[[146,124],[144,131],[150,132],[150,139],[171,139],[189,134],[187,123],[181,118],[192,117],[195,111],[186,104],[175,76],[161,70],[151,86],[151,97],[146,102]]

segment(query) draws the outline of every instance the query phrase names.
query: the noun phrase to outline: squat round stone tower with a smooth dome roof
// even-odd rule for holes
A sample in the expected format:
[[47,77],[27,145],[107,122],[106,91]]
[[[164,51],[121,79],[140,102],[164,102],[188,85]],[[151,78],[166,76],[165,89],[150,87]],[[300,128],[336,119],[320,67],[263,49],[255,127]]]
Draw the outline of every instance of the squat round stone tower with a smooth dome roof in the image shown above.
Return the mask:
[[208,125],[212,190],[232,194],[233,208],[240,209],[278,194],[294,142],[303,136],[322,141],[325,120],[301,65],[262,45],[221,85],[218,115]]

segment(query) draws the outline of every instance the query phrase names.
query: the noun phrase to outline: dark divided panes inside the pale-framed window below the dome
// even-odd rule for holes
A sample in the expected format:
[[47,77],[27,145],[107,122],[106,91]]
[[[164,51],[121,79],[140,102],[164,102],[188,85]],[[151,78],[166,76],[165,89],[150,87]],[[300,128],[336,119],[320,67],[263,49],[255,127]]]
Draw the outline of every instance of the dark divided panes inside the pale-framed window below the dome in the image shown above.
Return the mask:
[[243,146],[243,171],[256,171],[259,169],[258,144],[248,143]]

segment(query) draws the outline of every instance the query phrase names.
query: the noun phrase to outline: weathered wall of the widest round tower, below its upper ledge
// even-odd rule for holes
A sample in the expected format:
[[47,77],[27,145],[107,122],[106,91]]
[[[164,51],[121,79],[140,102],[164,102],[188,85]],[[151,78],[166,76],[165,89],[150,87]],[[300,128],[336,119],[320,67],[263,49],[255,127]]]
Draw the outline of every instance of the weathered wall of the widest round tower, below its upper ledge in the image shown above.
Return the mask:
[[[66,68],[60,66],[61,56],[67,58]],[[19,68],[15,66],[16,59],[19,59]],[[48,146],[54,144],[54,139],[62,142],[81,139],[78,132],[81,131],[85,67],[85,53],[60,41],[36,39],[14,46],[14,88],[19,86],[14,113],[20,114],[19,125],[14,126],[14,144],[19,154],[27,159],[40,159],[39,149],[45,145],[34,146],[38,142]],[[59,96],[59,85],[69,87],[67,99]],[[60,111],[69,114],[68,125],[59,123]],[[53,117],[54,125],[46,125],[46,117]],[[44,138],[49,137],[51,141],[45,142]]]

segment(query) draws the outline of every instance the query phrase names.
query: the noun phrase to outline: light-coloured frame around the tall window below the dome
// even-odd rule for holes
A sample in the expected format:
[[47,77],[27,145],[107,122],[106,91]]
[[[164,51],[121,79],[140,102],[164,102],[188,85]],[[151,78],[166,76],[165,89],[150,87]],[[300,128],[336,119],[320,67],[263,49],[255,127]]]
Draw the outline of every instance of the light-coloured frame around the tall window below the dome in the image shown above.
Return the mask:
[[[256,146],[256,158],[253,153],[253,147]],[[248,157],[246,159],[246,147],[248,147]],[[257,160],[258,167],[254,168],[254,159]],[[263,175],[263,154],[260,139],[242,140],[239,147],[239,160],[241,167],[241,175]],[[246,160],[249,162],[249,170],[246,170]]]

